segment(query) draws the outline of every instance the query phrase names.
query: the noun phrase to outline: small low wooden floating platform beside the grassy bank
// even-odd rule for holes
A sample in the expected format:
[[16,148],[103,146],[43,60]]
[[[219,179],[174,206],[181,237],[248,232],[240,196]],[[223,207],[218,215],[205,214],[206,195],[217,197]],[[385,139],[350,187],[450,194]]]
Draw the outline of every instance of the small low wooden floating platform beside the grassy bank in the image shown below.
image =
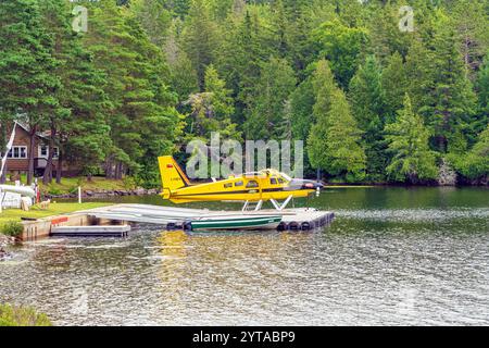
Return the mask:
[[57,226],[51,236],[57,237],[127,237],[129,225]]

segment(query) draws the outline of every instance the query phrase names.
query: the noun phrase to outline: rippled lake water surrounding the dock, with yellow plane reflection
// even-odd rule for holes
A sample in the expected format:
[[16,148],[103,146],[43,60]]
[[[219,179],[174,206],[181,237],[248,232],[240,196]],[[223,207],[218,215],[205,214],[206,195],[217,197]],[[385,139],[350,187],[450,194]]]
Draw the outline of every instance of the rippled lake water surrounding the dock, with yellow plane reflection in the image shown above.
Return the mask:
[[26,244],[0,262],[0,301],[57,325],[489,324],[488,189],[329,188],[306,204],[335,221]]

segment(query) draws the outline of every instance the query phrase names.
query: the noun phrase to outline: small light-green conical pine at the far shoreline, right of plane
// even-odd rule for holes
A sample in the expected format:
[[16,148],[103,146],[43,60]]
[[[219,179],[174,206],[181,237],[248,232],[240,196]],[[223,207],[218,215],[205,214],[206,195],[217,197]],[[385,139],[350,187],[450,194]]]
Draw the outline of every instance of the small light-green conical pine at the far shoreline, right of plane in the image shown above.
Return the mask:
[[392,160],[386,170],[393,181],[415,184],[437,177],[435,154],[428,145],[429,132],[423,119],[414,113],[408,94],[398,120],[386,126],[386,133],[389,151],[392,152]]

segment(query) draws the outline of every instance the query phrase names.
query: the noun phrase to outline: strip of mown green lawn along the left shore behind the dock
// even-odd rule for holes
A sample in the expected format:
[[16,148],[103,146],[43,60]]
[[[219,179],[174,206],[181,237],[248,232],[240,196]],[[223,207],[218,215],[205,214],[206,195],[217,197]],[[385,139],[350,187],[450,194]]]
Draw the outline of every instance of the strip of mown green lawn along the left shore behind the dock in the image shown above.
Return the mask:
[[0,226],[8,222],[20,222],[21,217],[40,219],[52,215],[73,213],[78,210],[93,209],[110,206],[111,203],[88,202],[88,203],[51,203],[49,209],[42,210],[39,207],[32,207],[29,211],[20,209],[4,209],[0,213]]

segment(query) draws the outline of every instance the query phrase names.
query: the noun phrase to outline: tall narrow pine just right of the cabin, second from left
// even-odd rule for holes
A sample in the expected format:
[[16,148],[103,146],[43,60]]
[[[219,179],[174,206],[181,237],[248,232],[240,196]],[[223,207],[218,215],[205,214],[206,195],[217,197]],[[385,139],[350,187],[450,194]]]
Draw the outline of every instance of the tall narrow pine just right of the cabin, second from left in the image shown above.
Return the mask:
[[[54,74],[59,76],[62,88],[57,90],[60,101],[58,112],[46,116],[49,129],[48,160],[42,175],[43,184],[52,181],[54,147],[58,147],[57,182],[61,182],[64,148],[71,137],[82,136],[84,145],[74,149],[70,159],[83,165],[97,165],[103,158],[106,147],[108,128],[104,127],[103,92],[100,87],[100,72],[95,71],[91,57],[83,49],[80,35],[72,29],[70,7],[63,0],[41,2],[46,26],[53,39],[51,55],[59,61]],[[87,98],[90,96],[90,98]],[[93,126],[93,124],[99,124]],[[87,126],[91,125],[88,129]],[[85,127],[84,127],[85,126]],[[83,129],[83,130],[82,130]],[[100,135],[97,137],[97,135]],[[98,141],[92,141],[97,139]],[[100,154],[100,156],[98,156]]]

